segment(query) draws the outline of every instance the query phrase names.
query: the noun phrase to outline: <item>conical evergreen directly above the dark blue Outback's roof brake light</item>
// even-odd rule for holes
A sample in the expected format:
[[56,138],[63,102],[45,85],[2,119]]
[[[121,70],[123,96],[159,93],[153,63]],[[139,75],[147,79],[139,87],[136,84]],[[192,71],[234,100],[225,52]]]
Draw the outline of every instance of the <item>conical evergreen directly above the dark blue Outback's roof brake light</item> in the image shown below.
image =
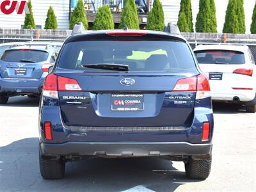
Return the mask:
[[137,8],[134,0],[126,0],[124,12],[121,17],[119,28],[123,29],[125,26],[129,29],[140,29]]

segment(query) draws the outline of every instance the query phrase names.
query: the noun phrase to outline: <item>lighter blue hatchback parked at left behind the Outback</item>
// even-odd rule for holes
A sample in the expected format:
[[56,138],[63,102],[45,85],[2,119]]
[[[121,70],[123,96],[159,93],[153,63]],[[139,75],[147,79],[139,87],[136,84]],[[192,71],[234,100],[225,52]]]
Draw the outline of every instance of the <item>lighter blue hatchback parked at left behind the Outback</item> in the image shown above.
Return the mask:
[[0,104],[17,95],[38,97],[57,54],[55,49],[7,49],[0,60]]

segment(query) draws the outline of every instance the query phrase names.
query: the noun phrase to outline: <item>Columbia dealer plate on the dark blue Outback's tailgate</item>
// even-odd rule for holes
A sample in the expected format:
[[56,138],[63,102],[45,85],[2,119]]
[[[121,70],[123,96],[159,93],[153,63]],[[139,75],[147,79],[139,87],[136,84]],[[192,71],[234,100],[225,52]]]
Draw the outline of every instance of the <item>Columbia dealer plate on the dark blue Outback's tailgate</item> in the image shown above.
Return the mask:
[[144,111],[144,95],[111,94],[111,111]]

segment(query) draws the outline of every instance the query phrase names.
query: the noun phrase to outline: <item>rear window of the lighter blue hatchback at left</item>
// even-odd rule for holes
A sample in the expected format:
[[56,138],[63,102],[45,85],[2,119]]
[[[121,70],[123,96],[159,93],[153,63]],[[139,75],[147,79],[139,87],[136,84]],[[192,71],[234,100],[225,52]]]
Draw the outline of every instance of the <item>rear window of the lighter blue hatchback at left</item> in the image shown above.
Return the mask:
[[20,61],[31,61],[33,63],[38,63],[46,61],[49,53],[45,51],[37,50],[8,50],[5,51],[1,60],[6,62],[20,62]]

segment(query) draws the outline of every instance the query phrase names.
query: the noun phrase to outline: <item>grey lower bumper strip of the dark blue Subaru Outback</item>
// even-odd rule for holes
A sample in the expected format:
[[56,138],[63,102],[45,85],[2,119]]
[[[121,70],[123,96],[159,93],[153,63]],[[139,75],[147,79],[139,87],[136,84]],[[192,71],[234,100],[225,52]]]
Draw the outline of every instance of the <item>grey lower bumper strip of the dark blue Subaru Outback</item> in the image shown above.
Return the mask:
[[74,142],[40,143],[42,154],[74,156],[174,156],[211,154],[212,144],[188,142]]

